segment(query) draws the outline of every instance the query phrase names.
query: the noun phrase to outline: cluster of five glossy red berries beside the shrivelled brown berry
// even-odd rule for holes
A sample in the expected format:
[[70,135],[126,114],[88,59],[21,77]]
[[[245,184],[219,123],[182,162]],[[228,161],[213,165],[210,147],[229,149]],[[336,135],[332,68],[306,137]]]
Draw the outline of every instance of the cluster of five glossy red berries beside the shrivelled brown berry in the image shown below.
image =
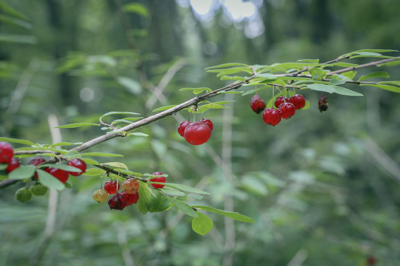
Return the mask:
[[290,99],[279,96],[275,99],[274,105],[276,108],[267,108],[264,100],[260,95],[256,94],[251,98],[250,107],[256,113],[262,112],[262,120],[268,125],[278,125],[278,123],[284,119],[289,119],[294,115],[296,110],[301,109],[306,105],[306,99],[301,94],[296,94],[290,97]]

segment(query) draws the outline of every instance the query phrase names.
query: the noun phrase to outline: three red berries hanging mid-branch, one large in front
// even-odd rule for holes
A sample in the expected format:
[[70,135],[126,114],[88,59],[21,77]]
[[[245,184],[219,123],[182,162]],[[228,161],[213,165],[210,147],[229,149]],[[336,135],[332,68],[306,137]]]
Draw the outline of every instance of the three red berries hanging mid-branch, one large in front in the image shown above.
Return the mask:
[[[210,119],[198,122],[182,121],[178,125],[178,133],[192,145],[201,145],[211,137],[213,125]],[[158,181],[157,181],[158,182]]]

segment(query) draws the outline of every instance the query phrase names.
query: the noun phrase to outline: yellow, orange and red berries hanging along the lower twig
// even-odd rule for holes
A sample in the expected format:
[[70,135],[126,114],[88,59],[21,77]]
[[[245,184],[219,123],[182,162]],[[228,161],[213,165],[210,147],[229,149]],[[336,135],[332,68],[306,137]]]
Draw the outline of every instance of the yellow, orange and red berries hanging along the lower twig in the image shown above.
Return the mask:
[[[153,173],[153,175],[162,175],[160,172]],[[150,179],[153,182],[165,183],[165,177],[154,177]],[[110,209],[123,210],[125,207],[136,203],[139,200],[139,182],[136,179],[128,178],[122,182],[122,192],[120,190],[120,184],[117,181],[107,181],[104,184],[104,189],[98,189],[93,193],[93,199],[100,202],[105,202],[108,199],[108,195],[114,195],[108,200],[108,206]],[[155,189],[161,189],[164,185],[151,184]]]

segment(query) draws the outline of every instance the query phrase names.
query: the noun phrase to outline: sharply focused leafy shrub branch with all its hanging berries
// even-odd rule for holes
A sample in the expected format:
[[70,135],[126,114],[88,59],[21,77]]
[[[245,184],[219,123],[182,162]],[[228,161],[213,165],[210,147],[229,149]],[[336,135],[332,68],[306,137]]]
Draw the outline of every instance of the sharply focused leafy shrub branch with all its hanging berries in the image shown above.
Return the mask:
[[[120,157],[122,155],[104,152],[82,152],[99,143],[115,137],[148,136],[141,132],[130,132],[133,129],[150,124],[178,111],[187,109],[189,118],[178,126],[178,134],[185,138],[188,145],[202,145],[212,137],[213,123],[210,119],[204,119],[203,113],[208,109],[228,108],[224,104],[230,101],[210,102],[207,99],[221,93],[242,93],[242,95],[254,95],[250,101],[251,109],[256,113],[262,113],[262,120],[267,125],[275,126],[282,119],[289,119],[300,109],[308,109],[310,103],[299,92],[303,89],[318,91],[318,108],[321,111],[328,109],[328,100],[324,93],[338,93],[346,96],[363,96],[361,93],[343,87],[346,83],[354,83],[360,86],[373,86],[393,92],[400,92],[400,81],[365,81],[370,78],[388,78],[387,72],[378,71],[363,75],[355,79],[356,69],[366,67],[380,67],[400,64],[400,58],[384,56],[384,52],[398,52],[395,50],[359,50],[338,57],[335,60],[319,63],[319,60],[299,60],[297,62],[276,63],[272,65],[249,66],[240,63],[228,63],[213,67],[207,67],[207,72],[217,73],[221,80],[234,80],[225,87],[212,90],[210,88],[184,88],[180,91],[192,91],[197,96],[179,105],[169,105],[155,109],[160,111],[150,117],[137,117],[138,113],[111,111],[102,115],[99,123],[74,123],[62,125],[58,128],[75,128],[84,125],[100,126],[106,134],[96,137],[86,143],[54,143],[52,145],[35,144],[28,140],[0,137],[0,189],[4,189],[17,182],[26,183],[26,187],[16,192],[16,199],[27,202],[32,195],[42,196],[48,188],[62,191],[70,188],[68,178],[84,176],[102,177],[100,188],[93,193],[93,199],[102,203],[108,201],[111,209],[123,210],[127,206],[137,204],[139,210],[146,212],[162,212],[172,206],[176,206],[188,216],[194,217],[192,228],[198,234],[206,234],[212,229],[212,221],[206,215],[197,212],[205,210],[216,212],[242,222],[254,222],[251,218],[237,212],[226,212],[208,206],[189,206],[181,197],[201,200],[202,195],[209,193],[188,187],[182,184],[167,182],[168,175],[161,172],[153,174],[137,173],[128,169],[120,162],[99,163],[91,157]],[[340,62],[358,57],[384,58],[367,64],[354,64]],[[331,70],[331,67],[340,68]],[[232,74],[243,73],[243,75]],[[255,88],[252,89],[254,85]],[[257,87],[258,86],[258,87]],[[240,87],[251,88],[246,91],[236,91]],[[270,97],[265,103],[263,97]],[[204,94],[200,95],[201,93]],[[200,113],[202,120],[194,121],[194,114]],[[110,115],[125,114],[131,117],[117,119],[110,124],[103,120]],[[190,118],[193,114],[193,122]],[[134,117],[132,117],[134,116]],[[136,122],[133,122],[138,120]],[[127,123],[121,126],[121,123]],[[118,124],[118,125],[117,125]],[[269,130],[273,130],[269,127]],[[268,130],[268,128],[266,128]],[[23,147],[13,149],[9,144],[19,143]],[[64,149],[64,146],[77,145],[72,149]],[[34,157],[27,165],[20,165],[18,158]],[[66,162],[64,164],[63,162]],[[106,182],[103,181],[106,179]],[[150,186],[150,185],[151,186]],[[109,195],[112,195],[109,197]],[[210,222],[211,221],[211,222]]]

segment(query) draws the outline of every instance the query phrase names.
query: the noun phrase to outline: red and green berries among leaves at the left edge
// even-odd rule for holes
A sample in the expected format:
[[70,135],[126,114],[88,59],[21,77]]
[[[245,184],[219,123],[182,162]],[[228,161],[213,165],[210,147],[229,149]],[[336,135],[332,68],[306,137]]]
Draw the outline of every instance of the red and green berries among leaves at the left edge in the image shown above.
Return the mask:
[[[20,161],[18,161],[18,159],[13,156],[14,156],[14,150],[12,146],[7,142],[0,142],[0,163],[8,164],[7,168],[5,169],[7,173],[10,173],[11,171],[20,167]],[[46,160],[43,158],[36,157],[32,159],[28,164],[38,166],[44,163],[45,161]],[[86,163],[81,159],[72,159],[68,161],[68,165],[80,169],[81,172],[68,172],[55,167],[47,167],[43,170],[49,173],[50,175],[56,177],[57,179],[59,179],[62,183],[67,182],[69,175],[77,177],[86,171]],[[47,187],[43,186],[37,181],[38,179],[37,173],[35,173],[34,179],[36,180],[36,183],[31,188],[24,187],[16,192],[15,196],[17,200],[21,202],[27,202],[30,199],[32,199],[32,195],[42,196],[46,194]]]

